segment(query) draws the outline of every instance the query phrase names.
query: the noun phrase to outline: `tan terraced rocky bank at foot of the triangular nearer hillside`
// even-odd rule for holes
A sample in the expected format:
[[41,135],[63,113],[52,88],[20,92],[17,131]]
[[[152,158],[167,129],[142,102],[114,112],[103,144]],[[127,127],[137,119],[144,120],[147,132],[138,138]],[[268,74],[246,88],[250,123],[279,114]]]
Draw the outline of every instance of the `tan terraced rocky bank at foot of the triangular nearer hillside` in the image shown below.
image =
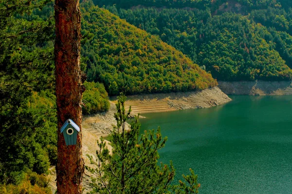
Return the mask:
[[133,114],[143,114],[210,108],[225,104],[230,100],[218,87],[214,87],[194,92],[129,96],[126,106],[127,108],[131,106]]

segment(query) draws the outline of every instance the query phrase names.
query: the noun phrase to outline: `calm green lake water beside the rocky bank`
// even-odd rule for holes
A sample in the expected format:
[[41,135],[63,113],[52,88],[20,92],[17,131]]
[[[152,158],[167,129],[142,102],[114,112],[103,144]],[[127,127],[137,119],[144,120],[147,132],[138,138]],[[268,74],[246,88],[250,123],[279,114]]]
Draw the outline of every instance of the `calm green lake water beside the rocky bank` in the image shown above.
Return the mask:
[[176,181],[192,168],[200,194],[292,194],[292,96],[231,96],[209,109],[144,114],[168,137],[160,161]]

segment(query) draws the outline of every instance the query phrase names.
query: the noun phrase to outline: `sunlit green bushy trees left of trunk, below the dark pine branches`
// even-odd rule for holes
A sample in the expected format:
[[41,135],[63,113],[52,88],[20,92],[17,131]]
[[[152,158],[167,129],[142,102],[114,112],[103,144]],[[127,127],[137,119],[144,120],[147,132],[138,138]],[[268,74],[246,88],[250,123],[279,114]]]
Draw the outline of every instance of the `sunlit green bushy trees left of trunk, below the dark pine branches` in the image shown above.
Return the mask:
[[56,163],[55,96],[48,91],[33,92],[18,114],[12,126],[1,128],[1,143],[6,149],[0,157],[3,183],[16,184],[24,169],[47,173],[50,164]]

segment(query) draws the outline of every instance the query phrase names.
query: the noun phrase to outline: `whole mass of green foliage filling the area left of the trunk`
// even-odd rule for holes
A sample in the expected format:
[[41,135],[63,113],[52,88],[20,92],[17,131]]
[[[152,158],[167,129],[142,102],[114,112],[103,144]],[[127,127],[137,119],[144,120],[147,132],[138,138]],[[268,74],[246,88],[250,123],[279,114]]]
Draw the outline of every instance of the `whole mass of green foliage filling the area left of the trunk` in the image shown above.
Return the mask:
[[55,161],[54,23],[29,19],[48,2],[0,0],[0,183]]

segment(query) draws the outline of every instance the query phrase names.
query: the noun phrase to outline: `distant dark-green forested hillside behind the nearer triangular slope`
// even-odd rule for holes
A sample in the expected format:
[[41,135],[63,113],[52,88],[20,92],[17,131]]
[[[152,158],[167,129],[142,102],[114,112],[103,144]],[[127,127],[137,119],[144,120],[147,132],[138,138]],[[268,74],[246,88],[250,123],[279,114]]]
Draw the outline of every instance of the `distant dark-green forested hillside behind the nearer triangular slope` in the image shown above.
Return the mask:
[[[158,35],[219,80],[291,80],[291,1],[125,1],[99,5]],[[177,5],[177,6],[176,6]],[[163,7],[161,7],[163,6]],[[159,8],[158,8],[159,7]],[[290,67],[290,68],[289,68]]]

